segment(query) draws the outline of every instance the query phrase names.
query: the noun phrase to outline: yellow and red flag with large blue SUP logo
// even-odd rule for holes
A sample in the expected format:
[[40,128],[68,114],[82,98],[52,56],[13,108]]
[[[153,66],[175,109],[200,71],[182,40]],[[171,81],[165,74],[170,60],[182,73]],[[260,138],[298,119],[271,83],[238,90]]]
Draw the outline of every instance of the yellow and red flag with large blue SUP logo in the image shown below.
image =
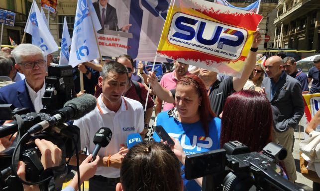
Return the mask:
[[240,77],[262,18],[205,0],[172,0],[157,55]]

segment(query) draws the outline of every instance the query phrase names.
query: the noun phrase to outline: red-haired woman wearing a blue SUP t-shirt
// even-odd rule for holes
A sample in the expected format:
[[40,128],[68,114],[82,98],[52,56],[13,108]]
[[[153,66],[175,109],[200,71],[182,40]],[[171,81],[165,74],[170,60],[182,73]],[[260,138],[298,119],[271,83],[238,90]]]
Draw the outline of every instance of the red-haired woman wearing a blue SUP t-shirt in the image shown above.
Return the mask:
[[[156,125],[161,125],[170,136],[178,139],[187,155],[220,147],[221,120],[211,110],[206,86],[198,76],[179,79],[175,105],[175,108],[158,114]],[[156,133],[153,138],[160,141]],[[184,178],[184,173],[182,176]],[[201,184],[201,180],[197,182]],[[201,187],[194,180],[184,179],[184,190],[201,191]]]

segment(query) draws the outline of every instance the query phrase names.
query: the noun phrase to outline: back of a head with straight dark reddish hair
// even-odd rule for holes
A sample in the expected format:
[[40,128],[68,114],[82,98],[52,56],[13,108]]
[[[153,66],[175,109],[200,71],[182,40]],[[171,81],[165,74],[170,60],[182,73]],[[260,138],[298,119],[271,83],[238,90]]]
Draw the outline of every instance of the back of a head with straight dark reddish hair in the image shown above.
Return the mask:
[[238,140],[259,152],[271,142],[271,126],[271,105],[264,95],[250,90],[235,92],[224,104],[220,145]]

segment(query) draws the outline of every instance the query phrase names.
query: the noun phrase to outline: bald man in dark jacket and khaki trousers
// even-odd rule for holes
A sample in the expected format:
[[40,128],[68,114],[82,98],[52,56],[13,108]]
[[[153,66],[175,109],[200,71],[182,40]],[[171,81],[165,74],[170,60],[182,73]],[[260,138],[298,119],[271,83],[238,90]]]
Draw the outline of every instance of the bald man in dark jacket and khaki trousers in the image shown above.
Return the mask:
[[261,92],[271,103],[273,113],[274,142],[283,145],[287,151],[284,165],[289,181],[297,180],[295,161],[292,155],[294,127],[304,115],[305,106],[302,98],[300,82],[287,75],[281,57],[270,57],[265,64],[268,77],[262,81]]

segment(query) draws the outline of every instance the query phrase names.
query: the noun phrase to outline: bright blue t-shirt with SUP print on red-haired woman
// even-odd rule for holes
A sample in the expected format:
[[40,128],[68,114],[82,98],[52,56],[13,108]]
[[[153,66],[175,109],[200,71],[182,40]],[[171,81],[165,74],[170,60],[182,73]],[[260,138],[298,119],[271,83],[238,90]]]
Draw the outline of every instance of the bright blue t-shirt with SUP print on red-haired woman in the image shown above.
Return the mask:
[[[168,115],[167,112],[161,112],[157,116],[157,126],[162,126],[166,132],[179,140],[186,155],[207,152],[220,148],[220,127],[221,120],[213,118],[209,123],[209,136],[205,136],[201,122],[193,124],[181,123],[174,117]],[[160,137],[156,132],[153,133],[153,139],[160,141]],[[187,181],[184,174],[184,166],[181,168],[182,178],[184,181],[184,191],[201,191],[201,187],[196,181]]]

